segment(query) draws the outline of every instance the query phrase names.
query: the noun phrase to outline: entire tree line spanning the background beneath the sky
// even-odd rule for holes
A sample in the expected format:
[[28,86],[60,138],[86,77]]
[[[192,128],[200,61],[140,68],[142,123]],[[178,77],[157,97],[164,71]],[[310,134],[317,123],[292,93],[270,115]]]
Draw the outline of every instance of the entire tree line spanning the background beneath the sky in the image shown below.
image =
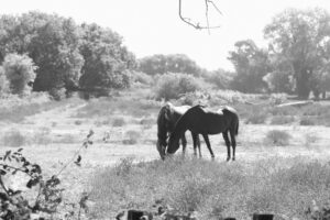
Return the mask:
[[[306,99],[330,90],[330,15],[326,10],[287,9],[264,28],[266,48],[238,41],[229,52],[234,72],[208,72],[184,54],[136,59],[122,36],[97,24],[76,24],[57,14],[0,16],[0,92],[123,89],[134,78],[168,73],[202,78],[221,89],[287,92]],[[221,41],[221,40],[219,40]],[[157,77],[154,77],[157,78]]]

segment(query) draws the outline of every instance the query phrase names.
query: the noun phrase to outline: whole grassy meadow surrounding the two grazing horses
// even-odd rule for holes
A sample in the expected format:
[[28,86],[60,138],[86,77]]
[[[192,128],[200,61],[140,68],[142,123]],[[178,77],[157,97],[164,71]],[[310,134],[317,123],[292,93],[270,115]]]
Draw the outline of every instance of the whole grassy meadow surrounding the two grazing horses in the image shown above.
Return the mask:
[[[212,91],[172,100],[200,101],[212,109],[233,106],[240,116],[237,161],[227,163],[221,135],[210,136],[216,161],[201,143],[202,158],[193,157],[191,138],[185,157],[160,160],[156,118],[164,102],[148,88],[132,88],[113,97],[52,101],[9,97],[0,109],[2,152],[23,147],[31,161],[52,176],[81,145],[90,130],[92,146],[81,166],[62,173],[65,202],[89,195],[86,219],[113,219],[123,209],[152,210],[162,204],[176,213],[198,219],[276,213],[277,219],[310,219],[309,207],[329,200],[330,103],[276,107],[284,95]],[[12,101],[14,100],[14,101]],[[23,187],[19,180],[14,187]],[[64,206],[59,216],[67,208]]]

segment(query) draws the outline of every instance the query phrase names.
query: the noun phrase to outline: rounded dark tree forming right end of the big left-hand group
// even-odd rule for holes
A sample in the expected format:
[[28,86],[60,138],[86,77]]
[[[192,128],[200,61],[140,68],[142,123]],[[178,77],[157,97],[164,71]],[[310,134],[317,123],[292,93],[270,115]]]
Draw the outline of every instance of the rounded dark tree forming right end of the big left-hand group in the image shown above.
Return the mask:
[[79,50],[85,64],[81,68],[80,87],[87,90],[129,87],[135,57],[122,45],[122,37],[97,24],[82,24],[81,31]]

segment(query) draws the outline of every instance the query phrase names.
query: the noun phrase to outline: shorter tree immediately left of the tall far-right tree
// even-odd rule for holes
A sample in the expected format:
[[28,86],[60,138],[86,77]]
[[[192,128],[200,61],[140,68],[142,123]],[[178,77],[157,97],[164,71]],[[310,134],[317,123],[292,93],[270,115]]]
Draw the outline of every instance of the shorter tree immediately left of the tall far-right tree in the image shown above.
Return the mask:
[[252,40],[239,41],[229,52],[237,75],[232,88],[243,92],[261,92],[266,88],[263,77],[271,70],[267,51],[258,48]]

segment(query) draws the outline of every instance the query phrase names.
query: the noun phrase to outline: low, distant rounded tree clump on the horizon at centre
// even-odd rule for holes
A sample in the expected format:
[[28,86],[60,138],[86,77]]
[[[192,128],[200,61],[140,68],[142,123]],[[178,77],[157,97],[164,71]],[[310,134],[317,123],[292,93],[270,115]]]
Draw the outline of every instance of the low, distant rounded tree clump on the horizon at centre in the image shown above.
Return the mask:
[[200,76],[204,70],[185,54],[146,56],[139,61],[139,70],[147,75],[182,73]]

